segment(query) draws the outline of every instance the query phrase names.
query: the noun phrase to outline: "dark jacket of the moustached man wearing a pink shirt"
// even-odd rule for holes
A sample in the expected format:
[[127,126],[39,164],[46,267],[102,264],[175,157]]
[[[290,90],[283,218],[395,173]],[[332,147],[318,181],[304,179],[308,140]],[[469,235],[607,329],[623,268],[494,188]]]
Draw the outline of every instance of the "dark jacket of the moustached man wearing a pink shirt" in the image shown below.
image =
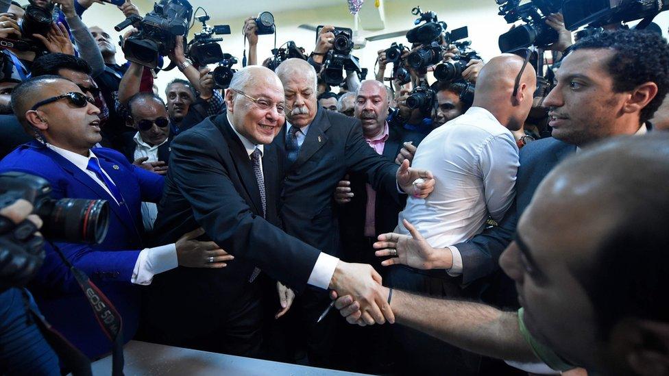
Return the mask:
[[[383,157],[395,161],[404,142],[412,141],[414,146],[425,138],[424,134],[417,134],[404,129],[389,128],[388,139],[383,147]],[[365,236],[365,214],[367,212],[367,179],[362,173],[350,175],[353,198],[350,202],[337,205],[341,243],[346,245]],[[404,209],[406,196],[400,202],[389,197],[387,192],[376,192],[375,225],[376,235],[392,232],[398,224],[398,214]],[[348,261],[348,260],[347,260]]]

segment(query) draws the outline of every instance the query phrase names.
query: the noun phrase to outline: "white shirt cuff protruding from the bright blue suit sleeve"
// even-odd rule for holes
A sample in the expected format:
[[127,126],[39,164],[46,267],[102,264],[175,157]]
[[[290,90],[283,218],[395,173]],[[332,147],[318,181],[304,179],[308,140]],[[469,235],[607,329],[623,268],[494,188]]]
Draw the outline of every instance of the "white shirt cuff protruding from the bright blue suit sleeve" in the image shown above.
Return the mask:
[[154,280],[154,275],[177,266],[179,262],[175,244],[146,248],[139,253],[130,281],[133,284],[149,285]]

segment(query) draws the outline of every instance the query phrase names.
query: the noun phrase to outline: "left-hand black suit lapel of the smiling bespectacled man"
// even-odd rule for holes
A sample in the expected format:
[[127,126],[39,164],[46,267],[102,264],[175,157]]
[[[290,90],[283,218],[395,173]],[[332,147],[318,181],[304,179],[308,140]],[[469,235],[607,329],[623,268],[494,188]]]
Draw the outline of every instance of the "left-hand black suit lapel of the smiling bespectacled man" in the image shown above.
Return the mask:
[[[256,213],[262,215],[263,201],[260,200],[260,188],[258,187],[258,181],[256,181],[256,174],[253,172],[251,158],[249,158],[239,136],[232,130],[232,125],[228,123],[227,116],[221,115],[216,120],[217,127],[219,127],[221,132],[223,132],[223,136],[228,140],[230,158],[232,158],[232,163],[237,169],[237,174],[241,179],[244,189],[251,198],[256,208]],[[267,189],[265,189],[265,192],[267,192]]]

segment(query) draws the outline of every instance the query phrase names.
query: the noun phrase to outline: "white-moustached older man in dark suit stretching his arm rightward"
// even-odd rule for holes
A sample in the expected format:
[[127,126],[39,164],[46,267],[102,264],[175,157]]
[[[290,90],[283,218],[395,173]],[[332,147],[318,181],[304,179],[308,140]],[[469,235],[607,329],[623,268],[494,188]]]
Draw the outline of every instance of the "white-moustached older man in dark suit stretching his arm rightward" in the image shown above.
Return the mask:
[[[284,228],[309,245],[340,256],[332,197],[337,182],[346,173],[365,174],[374,190],[384,192],[399,203],[398,166],[367,145],[360,121],[319,108],[316,72],[311,64],[288,59],[276,68],[276,74],[283,84],[290,110],[286,114],[286,129],[274,140],[287,164],[280,210]],[[411,184],[400,188],[413,190]],[[316,323],[329,301],[328,294],[315,289],[306,290],[298,299],[300,326],[306,328],[309,360],[316,366],[332,365],[335,315]]]

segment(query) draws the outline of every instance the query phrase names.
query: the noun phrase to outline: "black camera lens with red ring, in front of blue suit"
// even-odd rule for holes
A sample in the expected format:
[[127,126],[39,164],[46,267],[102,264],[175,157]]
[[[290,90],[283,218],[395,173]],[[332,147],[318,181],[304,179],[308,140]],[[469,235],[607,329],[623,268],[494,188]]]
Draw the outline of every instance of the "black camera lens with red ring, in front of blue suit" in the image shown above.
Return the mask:
[[100,243],[107,235],[109,204],[105,200],[45,199],[36,203],[49,240]]

